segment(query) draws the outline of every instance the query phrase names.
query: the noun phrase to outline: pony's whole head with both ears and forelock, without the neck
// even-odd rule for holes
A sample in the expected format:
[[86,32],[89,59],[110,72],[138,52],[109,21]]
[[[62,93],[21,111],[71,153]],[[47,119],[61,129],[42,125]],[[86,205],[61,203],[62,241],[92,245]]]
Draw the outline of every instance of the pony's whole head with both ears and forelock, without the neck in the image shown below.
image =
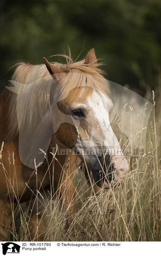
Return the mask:
[[44,60],[47,70],[59,84],[50,95],[53,128],[61,119],[55,105],[68,116],[68,121],[61,120],[56,137],[87,164],[98,186],[109,187],[109,183],[119,180],[129,166],[109,122],[114,105],[108,82],[98,69],[94,49],[78,66],[67,64],[58,68]]

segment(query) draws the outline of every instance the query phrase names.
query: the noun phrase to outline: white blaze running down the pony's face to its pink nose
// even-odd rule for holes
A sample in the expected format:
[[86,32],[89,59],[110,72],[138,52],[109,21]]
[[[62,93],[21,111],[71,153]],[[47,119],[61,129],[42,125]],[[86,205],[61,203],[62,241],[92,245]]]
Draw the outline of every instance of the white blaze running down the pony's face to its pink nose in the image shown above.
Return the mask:
[[[107,148],[116,169],[127,171],[127,160],[124,158],[118,139],[109,122],[109,114],[114,106],[111,99],[103,93],[99,95],[94,91],[92,97],[87,99],[87,102],[91,109],[93,109],[95,118],[99,123],[99,128],[98,126],[93,128],[90,139],[95,141],[96,145],[99,142],[103,147]],[[96,139],[99,141],[96,141]],[[118,176],[121,177],[122,175],[118,173]]]

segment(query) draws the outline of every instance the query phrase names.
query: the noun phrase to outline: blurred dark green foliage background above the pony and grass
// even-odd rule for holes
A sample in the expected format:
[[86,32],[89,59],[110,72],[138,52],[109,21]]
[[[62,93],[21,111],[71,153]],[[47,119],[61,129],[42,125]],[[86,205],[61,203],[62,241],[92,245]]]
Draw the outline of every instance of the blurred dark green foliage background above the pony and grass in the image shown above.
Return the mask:
[[0,91],[12,65],[43,63],[67,44],[80,59],[94,47],[109,80],[142,96],[161,91],[160,0],[3,0],[0,24]]

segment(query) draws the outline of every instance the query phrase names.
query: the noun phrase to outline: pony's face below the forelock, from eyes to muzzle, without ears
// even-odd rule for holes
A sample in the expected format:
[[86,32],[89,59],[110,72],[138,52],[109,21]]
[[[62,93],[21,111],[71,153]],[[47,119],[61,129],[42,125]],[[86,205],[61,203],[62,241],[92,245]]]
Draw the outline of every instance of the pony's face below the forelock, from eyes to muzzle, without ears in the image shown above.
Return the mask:
[[128,170],[109,122],[113,109],[111,99],[94,90],[81,103],[74,102],[67,107],[61,102],[58,107],[70,121],[62,122],[57,138],[86,161],[98,186],[108,188],[112,180],[119,180]]

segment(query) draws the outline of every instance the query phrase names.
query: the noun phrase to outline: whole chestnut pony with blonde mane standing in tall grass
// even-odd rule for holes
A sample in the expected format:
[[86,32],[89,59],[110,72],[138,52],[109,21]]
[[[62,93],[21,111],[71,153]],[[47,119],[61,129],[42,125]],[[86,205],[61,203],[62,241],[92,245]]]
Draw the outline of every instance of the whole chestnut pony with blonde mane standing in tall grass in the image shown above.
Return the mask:
[[[45,64],[19,63],[10,85],[0,94],[1,240],[9,239],[13,208],[31,200],[34,191],[41,194],[48,189],[51,179],[55,191],[60,180],[70,184],[64,200],[68,207],[75,198],[72,175],[82,162],[95,184],[105,189],[129,168],[109,122],[114,105],[95,50],[81,61],[73,61],[70,54],[62,56],[66,64],[46,58]],[[56,155],[58,147],[70,153]],[[53,148],[56,151],[50,154]],[[57,157],[54,170],[49,165],[53,155]],[[65,161],[69,168],[62,176]],[[64,185],[60,196],[63,193]],[[31,218],[35,221],[31,239],[35,239],[41,214],[37,216],[33,208]]]

